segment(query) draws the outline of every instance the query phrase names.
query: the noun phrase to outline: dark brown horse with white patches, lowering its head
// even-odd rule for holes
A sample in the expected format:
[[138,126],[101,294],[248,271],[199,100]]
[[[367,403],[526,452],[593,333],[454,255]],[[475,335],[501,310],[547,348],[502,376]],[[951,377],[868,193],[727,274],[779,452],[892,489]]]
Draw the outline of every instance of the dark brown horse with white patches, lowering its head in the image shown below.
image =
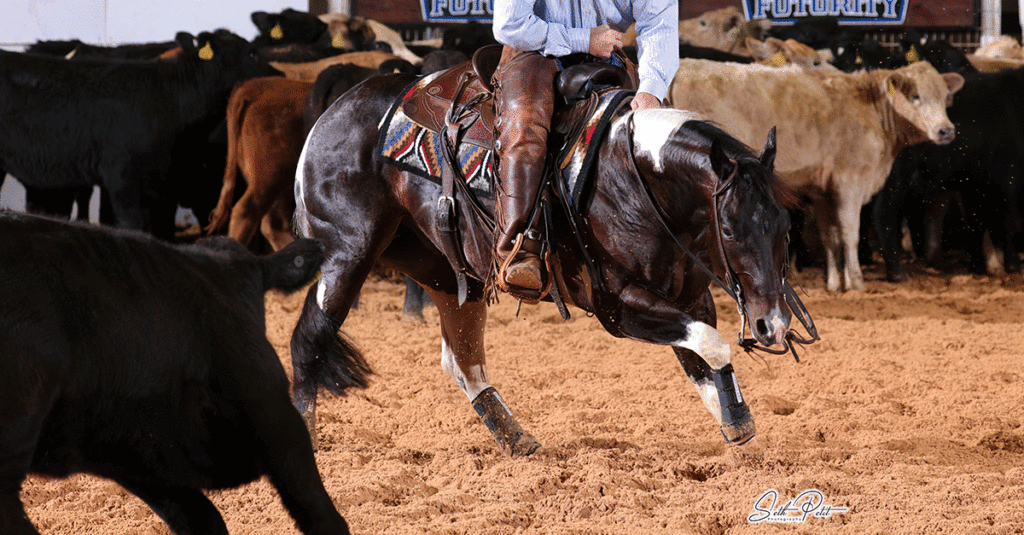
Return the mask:
[[[401,74],[361,82],[321,117],[302,150],[295,229],[321,241],[326,259],[291,339],[293,402],[315,444],[317,378],[340,395],[368,384],[371,367],[340,329],[380,261],[427,290],[440,321],[442,369],[506,455],[529,455],[540,443],[487,379],[483,336],[492,231],[474,223],[470,202],[458,203],[469,275],[460,302],[457,273],[442,253],[443,230],[435,217],[440,187],[381,161],[375,152],[379,125],[413,82]],[[670,346],[725,441],[745,443],[755,424],[730,344],[716,329],[711,283],[737,299],[744,326],[750,319],[753,339],[740,342],[744,348],[788,349],[799,341],[790,328],[795,314],[808,327],[786,282],[785,203],[793,197],[773,170],[774,129],[757,156],[690,113],[623,106],[595,142],[598,163],[575,213],[549,210],[553,283],[545,299],[557,294],[597,317],[613,336]],[[554,188],[552,195],[564,198],[566,192]],[[477,202],[494,213],[493,197]],[[776,344],[783,349],[770,348]]]

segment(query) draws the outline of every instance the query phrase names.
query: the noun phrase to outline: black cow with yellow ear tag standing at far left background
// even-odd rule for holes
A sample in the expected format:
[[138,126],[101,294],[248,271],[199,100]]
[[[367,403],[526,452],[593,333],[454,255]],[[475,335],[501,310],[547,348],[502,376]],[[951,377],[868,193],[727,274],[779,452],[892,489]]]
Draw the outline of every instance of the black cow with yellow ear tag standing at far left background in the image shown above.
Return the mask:
[[98,184],[119,227],[172,237],[180,193],[205,184],[168,177],[199,174],[189,166],[236,83],[280,74],[224,30],[176,41],[183,52],[168,61],[0,51],[0,174],[37,189]]

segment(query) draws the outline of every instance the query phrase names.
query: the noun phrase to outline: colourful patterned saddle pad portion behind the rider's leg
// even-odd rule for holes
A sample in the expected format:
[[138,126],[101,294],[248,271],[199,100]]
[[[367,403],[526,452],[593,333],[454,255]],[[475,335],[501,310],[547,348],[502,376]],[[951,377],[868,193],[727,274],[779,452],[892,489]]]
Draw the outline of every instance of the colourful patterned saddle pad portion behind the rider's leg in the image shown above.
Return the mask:
[[[433,75],[432,75],[433,76]],[[417,83],[422,83],[418,81]],[[417,84],[402,92],[381,121],[377,154],[402,171],[441,183],[441,135],[413,121],[401,109],[406,96]],[[494,151],[471,143],[459,147],[459,164],[469,189],[477,196],[494,196]]]

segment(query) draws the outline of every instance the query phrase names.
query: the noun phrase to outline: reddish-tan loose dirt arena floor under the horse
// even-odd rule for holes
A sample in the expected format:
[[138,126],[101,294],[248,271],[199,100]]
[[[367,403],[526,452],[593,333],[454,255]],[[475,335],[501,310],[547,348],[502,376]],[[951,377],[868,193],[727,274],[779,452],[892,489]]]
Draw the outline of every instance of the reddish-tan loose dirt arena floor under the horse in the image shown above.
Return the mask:
[[[733,448],[670,349],[503,299],[490,378],[543,444],[516,459],[441,371],[436,311],[403,322],[402,286],[371,281],[345,329],[377,376],[322,400],[321,474],[356,534],[1022,533],[1024,282],[910,273],[868,270],[867,292],[841,295],[798,274],[823,341],[800,363],[734,349],[758,436]],[[734,339],[735,306],[716,295]],[[301,299],[267,299],[289,370]],[[265,481],[210,496],[232,534],[298,533]],[[23,498],[46,534],[168,533],[90,477],[31,478]],[[813,510],[768,515],[790,500]]]

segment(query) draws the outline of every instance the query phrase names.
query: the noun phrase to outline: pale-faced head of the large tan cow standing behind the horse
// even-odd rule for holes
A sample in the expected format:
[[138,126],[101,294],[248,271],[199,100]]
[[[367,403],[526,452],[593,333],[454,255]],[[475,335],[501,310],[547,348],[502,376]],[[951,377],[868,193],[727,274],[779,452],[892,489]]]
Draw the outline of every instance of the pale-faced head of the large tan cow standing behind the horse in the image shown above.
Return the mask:
[[956,128],[946,116],[946,107],[964,87],[963,76],[939,74],[927,61],[918,61],[888,73],[879,83],[893,113],[919,130],[903,132],[909,142],[947,145],[953,140]]

